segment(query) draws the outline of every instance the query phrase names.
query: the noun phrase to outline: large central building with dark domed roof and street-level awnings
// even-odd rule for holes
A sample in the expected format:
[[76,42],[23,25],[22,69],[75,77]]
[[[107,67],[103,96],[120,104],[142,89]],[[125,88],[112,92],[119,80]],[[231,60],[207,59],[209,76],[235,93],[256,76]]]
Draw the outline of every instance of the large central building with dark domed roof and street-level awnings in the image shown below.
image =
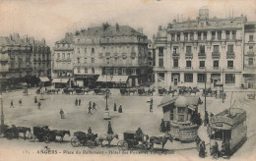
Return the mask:
[[[77,85],[90,86],[106,81],[137,86],[148,81],[148,38],[142,32],[106,23],[68,33],[68,36],[71,37],[72,51],[60,51],[55,46],[54,59],[57,60],[56,55],[70,53],[73,58],[71,68],[63,69],[72,69],[74,76],[70,78]],[[53,71],[56,71],[56,63],[54,61]]]

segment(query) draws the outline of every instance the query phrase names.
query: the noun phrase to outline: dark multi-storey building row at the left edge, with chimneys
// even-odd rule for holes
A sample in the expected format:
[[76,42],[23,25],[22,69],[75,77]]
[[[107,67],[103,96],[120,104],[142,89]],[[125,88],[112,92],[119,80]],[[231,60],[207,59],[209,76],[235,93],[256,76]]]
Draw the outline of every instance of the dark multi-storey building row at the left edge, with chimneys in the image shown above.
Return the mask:
[[36,84],[39,77],[50,77],[50,71],[50,48],[44,39],[20,37],[19,33],[0,37],[2,89],[17,86],[20,82]]

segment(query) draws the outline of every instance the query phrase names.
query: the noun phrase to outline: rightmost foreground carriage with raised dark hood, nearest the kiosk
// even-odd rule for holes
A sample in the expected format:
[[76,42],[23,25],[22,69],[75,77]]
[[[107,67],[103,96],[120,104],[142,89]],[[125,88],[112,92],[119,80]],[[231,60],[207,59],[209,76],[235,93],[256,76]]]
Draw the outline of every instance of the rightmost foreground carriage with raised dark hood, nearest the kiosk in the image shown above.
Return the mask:
[[[148,136],[148,135],[147,135]],[[123,140],[117,142],[117,146],[120,150],[128,150],[132,148],[147,150],[150,147],[148,140],[141,141],[136,137],[135,131],[126,131],[123,133]]]

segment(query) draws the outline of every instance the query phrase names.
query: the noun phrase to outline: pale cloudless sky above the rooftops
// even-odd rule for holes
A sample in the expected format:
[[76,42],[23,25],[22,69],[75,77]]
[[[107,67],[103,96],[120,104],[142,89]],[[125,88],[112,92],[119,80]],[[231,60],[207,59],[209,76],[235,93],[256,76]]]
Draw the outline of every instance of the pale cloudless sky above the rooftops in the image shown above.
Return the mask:
[[108,22],[143,27],[152,38],[178,15],[195,19],[203,6],[211,18],[243,14],[256,22],[256,0],[0,0],[0,35],[19,32],[53,46],[67,31]]

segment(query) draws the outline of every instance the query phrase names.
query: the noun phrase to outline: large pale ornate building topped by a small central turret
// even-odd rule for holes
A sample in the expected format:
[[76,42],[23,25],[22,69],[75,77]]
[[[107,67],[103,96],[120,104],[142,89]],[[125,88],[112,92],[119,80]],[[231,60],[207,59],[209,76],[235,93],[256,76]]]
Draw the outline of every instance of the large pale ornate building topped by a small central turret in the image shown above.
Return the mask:
[[246,17],[218,19],[202,8],[196,20],[173,20],[155,40],[157,85],[224,87],[241,85]]

